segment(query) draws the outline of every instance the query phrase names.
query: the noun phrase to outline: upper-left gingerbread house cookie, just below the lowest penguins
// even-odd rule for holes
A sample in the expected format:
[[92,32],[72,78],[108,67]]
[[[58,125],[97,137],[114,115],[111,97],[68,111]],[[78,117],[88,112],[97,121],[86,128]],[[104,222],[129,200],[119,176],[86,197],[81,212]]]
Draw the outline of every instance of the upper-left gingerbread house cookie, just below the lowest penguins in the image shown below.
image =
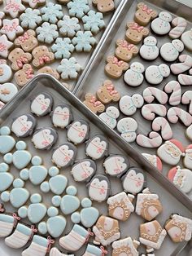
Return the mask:
[[126,221],[134,211],[134,206],[132,204],[133,199],[133,195],[127,195],[125,192],[120,192],[115,196],[109,197],[107,199],[109,216]]

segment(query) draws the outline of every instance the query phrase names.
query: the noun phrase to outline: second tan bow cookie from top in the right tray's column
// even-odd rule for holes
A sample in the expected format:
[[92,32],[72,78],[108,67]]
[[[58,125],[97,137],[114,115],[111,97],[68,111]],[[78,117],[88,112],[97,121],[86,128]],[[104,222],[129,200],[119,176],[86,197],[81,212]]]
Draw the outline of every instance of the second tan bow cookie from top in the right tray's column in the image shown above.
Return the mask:
[[146,38],[150,33],[149,29],[139,26],[136,22],[129,22],[127,28],[126,39],[134,44],[141,42],[142,38]]

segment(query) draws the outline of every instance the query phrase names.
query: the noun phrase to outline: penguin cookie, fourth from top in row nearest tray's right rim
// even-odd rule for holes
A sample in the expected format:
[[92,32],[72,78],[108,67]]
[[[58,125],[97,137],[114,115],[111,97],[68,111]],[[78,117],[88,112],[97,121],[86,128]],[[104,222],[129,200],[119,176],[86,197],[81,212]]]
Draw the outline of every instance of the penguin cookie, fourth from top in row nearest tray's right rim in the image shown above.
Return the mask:
[[107,156],[109,143],[103,135],[96,135],[86,142],[85,154],[94,160]]

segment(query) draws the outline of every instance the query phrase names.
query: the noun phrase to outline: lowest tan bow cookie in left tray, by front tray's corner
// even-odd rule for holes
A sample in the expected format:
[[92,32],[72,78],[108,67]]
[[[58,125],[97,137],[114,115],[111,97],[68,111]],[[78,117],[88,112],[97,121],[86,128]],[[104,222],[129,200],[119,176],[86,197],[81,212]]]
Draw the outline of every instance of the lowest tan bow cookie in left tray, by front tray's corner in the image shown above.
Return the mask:
[[18,86],[25,86],[33,78],[34,70],[30,64],[24,64],[24,67],[15,73],[15,81]]

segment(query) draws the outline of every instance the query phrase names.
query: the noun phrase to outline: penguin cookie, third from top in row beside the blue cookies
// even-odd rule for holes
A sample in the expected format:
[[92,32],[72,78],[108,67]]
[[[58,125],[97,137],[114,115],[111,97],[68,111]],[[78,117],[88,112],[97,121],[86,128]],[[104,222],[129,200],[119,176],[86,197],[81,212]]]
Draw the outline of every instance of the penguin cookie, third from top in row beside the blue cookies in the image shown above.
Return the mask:
[[55,148],[52,162],[59,168],[72,166],[76,159],[77,149],[72,143],[64,143]]

